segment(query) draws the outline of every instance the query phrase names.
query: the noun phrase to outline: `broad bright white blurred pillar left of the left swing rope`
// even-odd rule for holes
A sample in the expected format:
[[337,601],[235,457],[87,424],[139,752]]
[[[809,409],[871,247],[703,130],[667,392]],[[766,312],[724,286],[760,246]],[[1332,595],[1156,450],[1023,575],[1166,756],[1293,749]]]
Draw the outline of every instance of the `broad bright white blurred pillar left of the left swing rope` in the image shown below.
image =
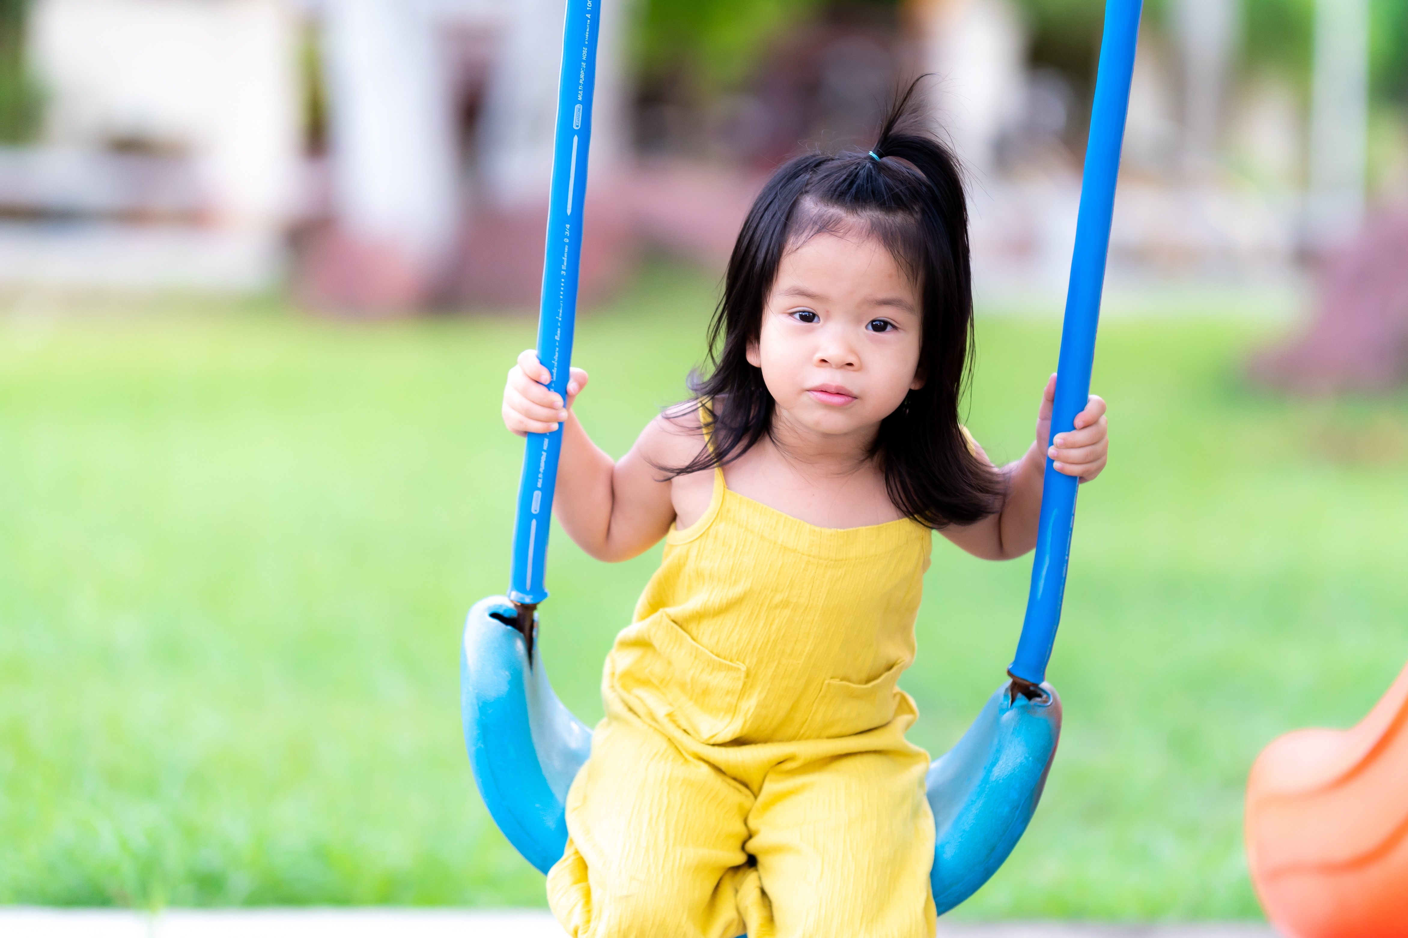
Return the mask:
[[324,15],[338,222],[435,266],[459,215],[435,21],[414,0],[331,0]]

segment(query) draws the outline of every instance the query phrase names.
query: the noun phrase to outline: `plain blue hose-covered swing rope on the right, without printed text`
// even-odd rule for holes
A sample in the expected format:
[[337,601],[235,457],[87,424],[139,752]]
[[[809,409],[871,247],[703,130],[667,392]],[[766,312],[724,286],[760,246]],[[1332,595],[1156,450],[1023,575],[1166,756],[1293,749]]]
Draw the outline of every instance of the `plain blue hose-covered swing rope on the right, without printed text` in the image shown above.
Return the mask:
[[[1100,75],[1095,79],[1095,104],[1090,118],[1090,145],[1086,149],[1080,217],[1076,222],[1076,253],[1070,263],[1066,322],[1056,368],[1052,437],[1074,429],[1076,415],[1086,408],[1090,397],[1100,295],[1105,284],[1110,222],[1115,210],[1115,181],[1119,176],[1119,150],[1129,111],[1129,83],[1133,77],[1142,8],[1142,0],[1108,0],[1105,4],[1105,34],[1100,46]],[[1041,527],[1032,561],[1032,591],[1026,598],[1026,619],[1017,644],[1017,657],[1008,668],[1012,676],[1032,685],[1046,679],[1046,662],[1050,661],[1056,627],[1060,624],[1070,534],[1076,522],[1077,481],[1057,473],[1052,460],[1046,460]]]

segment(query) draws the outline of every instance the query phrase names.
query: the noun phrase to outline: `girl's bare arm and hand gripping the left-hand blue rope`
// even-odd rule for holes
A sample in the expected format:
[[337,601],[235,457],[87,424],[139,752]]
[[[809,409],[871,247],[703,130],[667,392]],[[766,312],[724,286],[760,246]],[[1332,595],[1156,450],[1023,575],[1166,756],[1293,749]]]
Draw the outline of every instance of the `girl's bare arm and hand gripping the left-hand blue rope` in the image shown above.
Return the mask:
[[659,478],[655,465],[683,464],[693,453],[680,460],[674,450],[683,440],[658,418],[641,432],[631,451],[614,461],[591,442],[572,411],[587,387],[587,373],[572,368],[566,402],[543,384],[549,378],[536,352],[528,349],[518,356],[504,387],[504,425],[524,436],[551,433],[565,422],[553,495],[558,520],[597,560],[635,557],[665,537],[674,520],[670,482]]

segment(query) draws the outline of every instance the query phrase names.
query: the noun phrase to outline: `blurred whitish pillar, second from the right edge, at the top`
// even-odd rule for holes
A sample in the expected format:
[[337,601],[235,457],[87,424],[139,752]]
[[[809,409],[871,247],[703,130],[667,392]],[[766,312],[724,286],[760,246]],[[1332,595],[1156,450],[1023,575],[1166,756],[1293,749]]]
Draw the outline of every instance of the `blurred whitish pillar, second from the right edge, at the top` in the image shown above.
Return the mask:
[[1194,172],[1217,156],[1228,72],[1238,38],[1236,0],[1178,0],[1174,34],[1183,70],[1186,156]]

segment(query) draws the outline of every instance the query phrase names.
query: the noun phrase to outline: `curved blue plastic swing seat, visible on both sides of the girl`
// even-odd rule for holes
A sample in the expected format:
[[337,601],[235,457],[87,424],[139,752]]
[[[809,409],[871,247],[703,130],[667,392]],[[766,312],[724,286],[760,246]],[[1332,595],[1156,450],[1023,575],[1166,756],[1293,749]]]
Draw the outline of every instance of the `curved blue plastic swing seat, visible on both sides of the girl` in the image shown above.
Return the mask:
[[[460,655],[460,714],[479,793],[498,830],[548,872],[567,844],[567,788],[591,754],[591,730],[562,705],[542,657],[529,660],[504,596],[474,603]],[[535,622],[536,624],[536,622]],[[1060,698],[1028,700],[1004,685],[929,766],[934,903],[943,914],[1012,852],[1036,810],[1060,737]]]

